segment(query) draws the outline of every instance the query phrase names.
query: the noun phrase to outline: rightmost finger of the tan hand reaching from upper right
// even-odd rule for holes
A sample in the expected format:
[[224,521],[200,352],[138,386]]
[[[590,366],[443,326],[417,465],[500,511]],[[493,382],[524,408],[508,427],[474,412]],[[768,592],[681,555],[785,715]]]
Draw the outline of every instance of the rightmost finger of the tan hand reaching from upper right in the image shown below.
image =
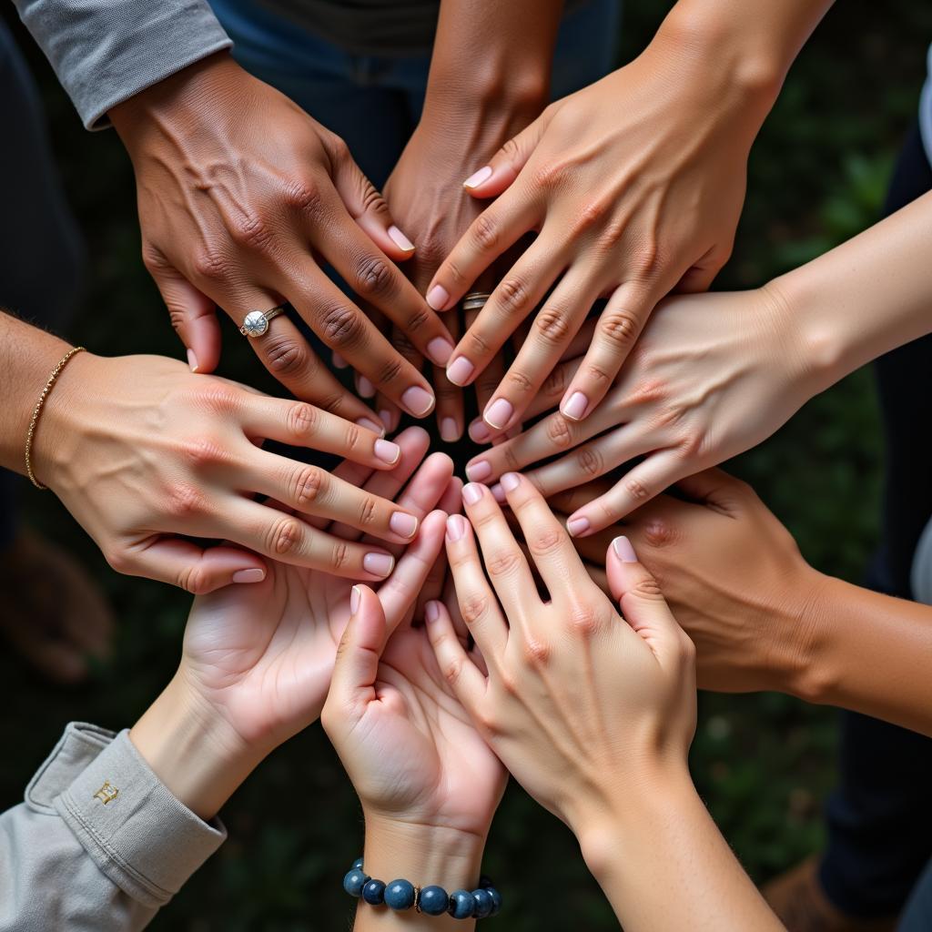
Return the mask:
[[642,281],[629,281],[615,289],[599,316],[592,345],[560,402],[564,417],[583,420],[592,414],[663,296],[655,285]]

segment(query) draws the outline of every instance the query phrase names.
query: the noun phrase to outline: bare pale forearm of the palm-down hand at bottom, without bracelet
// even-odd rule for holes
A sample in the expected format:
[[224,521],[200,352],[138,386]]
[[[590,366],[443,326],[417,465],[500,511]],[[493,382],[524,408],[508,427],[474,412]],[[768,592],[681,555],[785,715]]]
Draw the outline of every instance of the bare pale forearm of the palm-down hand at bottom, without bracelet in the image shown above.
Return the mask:
[[614,812],[586,820],[577,837],[626,932],[783,929],[708,815],[685,765],[639,787],[629,781],[617,801]]

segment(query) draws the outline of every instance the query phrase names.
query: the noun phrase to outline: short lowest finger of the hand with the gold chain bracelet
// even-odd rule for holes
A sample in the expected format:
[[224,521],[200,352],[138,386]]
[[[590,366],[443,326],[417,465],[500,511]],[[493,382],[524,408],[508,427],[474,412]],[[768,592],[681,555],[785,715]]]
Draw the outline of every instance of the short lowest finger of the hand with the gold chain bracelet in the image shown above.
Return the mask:
[[199,547],[178,537],[154,537],[133,547],[120,571],[169,583],[195,596],[230,583],[261,583],[266,564],[261,557],[226,544]]

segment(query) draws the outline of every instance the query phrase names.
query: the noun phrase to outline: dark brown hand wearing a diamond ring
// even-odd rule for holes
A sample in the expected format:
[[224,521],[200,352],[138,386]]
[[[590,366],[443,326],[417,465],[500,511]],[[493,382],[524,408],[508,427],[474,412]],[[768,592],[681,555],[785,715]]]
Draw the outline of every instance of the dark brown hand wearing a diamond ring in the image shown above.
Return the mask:
[[[217,363],[215,305],[239,326],[249,310],[286,300],[393,402],[417,418],[432,411],[427,381],[322,269],[330,263],[420,352],[445,363],[452,343],[443,324],[393,264],[414,248],[340,139],[226,54],[110,116],[136,171],[145,265],[194,367],[211,372]],[[371,418],[287,317],[250,342],[296,397]]]

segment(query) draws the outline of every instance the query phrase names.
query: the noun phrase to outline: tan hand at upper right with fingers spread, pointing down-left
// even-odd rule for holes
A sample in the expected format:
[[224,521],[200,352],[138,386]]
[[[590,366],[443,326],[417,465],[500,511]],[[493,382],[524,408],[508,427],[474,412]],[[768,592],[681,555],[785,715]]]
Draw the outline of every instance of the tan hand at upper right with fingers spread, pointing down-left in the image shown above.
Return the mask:
[[468,384],[543,302],[485,409],[496,432],[520,421],[598,297],[608,305],[561,402],[572,420],[596,409],[657,302],[674,288],[705,290],[727,260],[765,110],[725,71],[658,35],[634,62],[548,107],[467,183],[498,199],[438,270],[433,308],[452,307],[538,233],[447,363]]

